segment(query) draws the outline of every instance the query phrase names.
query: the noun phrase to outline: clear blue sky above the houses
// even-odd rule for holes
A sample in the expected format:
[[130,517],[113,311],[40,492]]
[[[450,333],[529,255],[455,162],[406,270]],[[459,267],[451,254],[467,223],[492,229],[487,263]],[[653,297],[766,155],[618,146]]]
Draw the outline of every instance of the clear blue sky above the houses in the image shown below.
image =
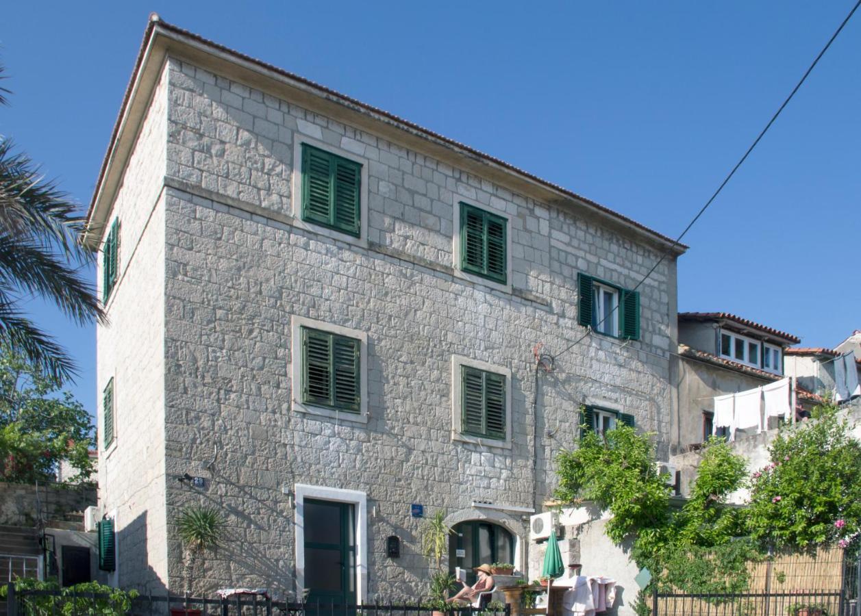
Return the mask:
[[[0,132],[90,202],[146,19],[168,21],[675,237],[852,0],[8,3]],[[682,311],[833,346],[861,328],[861,14],[685,237]],[[39,303],[94,410],[95,334]]]

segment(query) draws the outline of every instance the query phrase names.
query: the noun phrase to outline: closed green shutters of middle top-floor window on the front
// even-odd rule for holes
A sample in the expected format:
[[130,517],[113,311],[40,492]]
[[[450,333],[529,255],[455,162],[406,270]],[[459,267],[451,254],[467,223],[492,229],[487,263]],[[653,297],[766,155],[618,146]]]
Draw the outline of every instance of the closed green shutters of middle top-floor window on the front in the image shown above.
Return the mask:
[[461,270],[505,284],[508,221],[461,201]]

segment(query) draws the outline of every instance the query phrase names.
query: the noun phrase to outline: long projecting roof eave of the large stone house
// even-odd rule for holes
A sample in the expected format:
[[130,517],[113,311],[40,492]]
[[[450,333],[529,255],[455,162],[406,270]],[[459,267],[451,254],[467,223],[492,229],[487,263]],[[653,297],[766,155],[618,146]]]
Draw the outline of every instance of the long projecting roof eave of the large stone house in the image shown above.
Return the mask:
[[202,68],[215,66],[214,72],[218,74],[297,104],[304,103],[312,108],[324,108],[337,115],[349,116],[347,123],[366,128],[369,132],[380,134],[385,139],[407,145],[411,149],[439,157],[476,176],[511,188],[512,192],[530,195],[548,205],[571,207],[586,217],[599,219],[604,224],[615,226],[641,240],[646,240],[673,257],[682,255],[688,248],[685,244],[675,242],[672,238],[653,231],[595,201],[542,180],[522,169],[517,169],[498,158],[356,101],[304,77],[265,64],[197,34],[189,33],[161,21],[158,15],[151,16],[146,28],[132,78],[127,86],[108,151],[102,162],[96,190],[87,214],[88,229],[91,228],[95,232],[88,231],[85,234],[84,241],[87,243],[97,243],[96,236],[101,236],[99,232],[101,227],[98,223],[106,218],[102,216],[102,209],[105,203],[112,202],[115,191],[119,187],[121,169],[125,166],[140,124],[146,115],[152,88],[160,75],[164,58],[169,54],[176,55],[179,59],[188,59],[195,65],[202,65]]

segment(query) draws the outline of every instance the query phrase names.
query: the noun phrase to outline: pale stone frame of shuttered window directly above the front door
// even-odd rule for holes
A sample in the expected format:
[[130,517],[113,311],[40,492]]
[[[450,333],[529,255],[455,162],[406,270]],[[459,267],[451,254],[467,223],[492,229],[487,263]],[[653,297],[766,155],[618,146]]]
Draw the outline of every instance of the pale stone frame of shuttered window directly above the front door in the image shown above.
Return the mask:
[[[345,410],[329,409],[323,406],[302,402],[302,328],[321,330],[338,336],[347,336],[359,340],[359,395],[362,397],[359,403],[359,412],[350,413]],[[317,321],[313,318],[291,317],[290,326],[290,360],[292,366],[288,367],[291,376],[290,398],[293,410],[299,413],[331,417],[338,421],[368,423],[368,333],[360,330],[352,330],[341,325]]]

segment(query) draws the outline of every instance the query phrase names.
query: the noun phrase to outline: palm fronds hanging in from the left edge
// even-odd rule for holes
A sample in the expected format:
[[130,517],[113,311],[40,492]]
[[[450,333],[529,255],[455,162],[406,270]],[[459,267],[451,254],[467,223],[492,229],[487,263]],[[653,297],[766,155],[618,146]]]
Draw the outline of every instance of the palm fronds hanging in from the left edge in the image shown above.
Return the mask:
[[[9,90],[0,88],[0,105],[7,104],[5,94]],[[79,241],[84,225],[56,182],[46,181],[39,165],[0,135],[0,344],[60,383],[76,373],[74,362],[25,316],[22,303],[39,295],[80,325],[104,319],[84,279],[95,257]]]

